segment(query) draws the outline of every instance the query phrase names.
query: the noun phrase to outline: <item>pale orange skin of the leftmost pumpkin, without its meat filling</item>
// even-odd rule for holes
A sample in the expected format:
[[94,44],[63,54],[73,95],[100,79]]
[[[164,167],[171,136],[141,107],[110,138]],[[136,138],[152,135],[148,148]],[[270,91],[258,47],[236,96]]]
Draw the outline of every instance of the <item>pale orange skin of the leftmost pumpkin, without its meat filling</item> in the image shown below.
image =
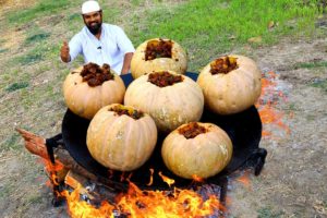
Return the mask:
[[83,82],[80,75],[82,70],[83,66],[72,71],[63,83],[64,100],[72,112],[90,120],[101,107],[123,101],[125,85],[114,71],[110,70],[114,74],[113,80],[90,87],[87,82]]

